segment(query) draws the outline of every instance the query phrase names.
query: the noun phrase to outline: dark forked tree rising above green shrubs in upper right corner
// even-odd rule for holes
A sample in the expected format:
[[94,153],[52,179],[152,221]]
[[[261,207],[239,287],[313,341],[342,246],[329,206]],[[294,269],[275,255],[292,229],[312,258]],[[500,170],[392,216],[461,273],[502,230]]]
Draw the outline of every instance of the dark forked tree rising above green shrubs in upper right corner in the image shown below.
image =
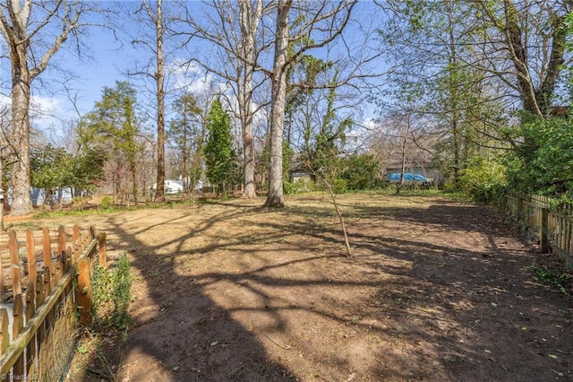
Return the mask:
[[573,2],[503,0],[477,4],[483,14],[483,20],[477,20],[489,31],[487,39],[478,45],[487,57],[483,69],[516,91],[526,111],[547,116],[565,63],[566,17],[573,11]]

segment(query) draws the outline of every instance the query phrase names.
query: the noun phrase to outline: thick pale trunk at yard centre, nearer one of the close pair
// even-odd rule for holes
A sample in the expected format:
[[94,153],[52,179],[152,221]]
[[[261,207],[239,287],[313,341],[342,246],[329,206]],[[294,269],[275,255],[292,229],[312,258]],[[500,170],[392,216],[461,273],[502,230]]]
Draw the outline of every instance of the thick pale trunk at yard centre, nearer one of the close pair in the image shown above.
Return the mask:
[[286,104],[286,48],[288,47],[288,16],[292,0],[279,0],[277,6],[277,32],[272,76],[270,105],[270,164],[269,194],[266,207],[285,206],[283,193],[283,130]]

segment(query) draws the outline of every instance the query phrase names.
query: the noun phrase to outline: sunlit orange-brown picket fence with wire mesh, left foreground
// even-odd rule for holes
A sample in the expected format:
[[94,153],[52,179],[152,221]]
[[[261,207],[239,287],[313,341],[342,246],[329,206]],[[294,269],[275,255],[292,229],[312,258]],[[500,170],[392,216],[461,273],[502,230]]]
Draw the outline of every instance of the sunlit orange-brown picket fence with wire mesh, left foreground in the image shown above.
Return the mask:
[[10,231],[0,255],[0,379],[60,380],[78,324],[90,322],[90,270],[106,265],[106,235],[60,226],[19,241]]

